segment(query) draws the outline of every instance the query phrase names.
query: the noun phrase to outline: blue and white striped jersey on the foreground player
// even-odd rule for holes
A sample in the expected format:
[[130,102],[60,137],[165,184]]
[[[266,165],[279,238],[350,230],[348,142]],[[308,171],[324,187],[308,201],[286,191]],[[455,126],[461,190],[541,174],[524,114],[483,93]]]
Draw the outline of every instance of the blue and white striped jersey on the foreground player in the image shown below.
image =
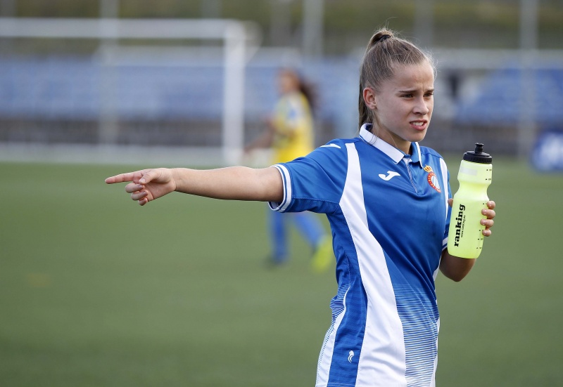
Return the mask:
[[434,150],[412,143],[405,155],[367,129],[275,165],[284,200],[270,207],[331,225],[339,287],[317,387],[434,386],[448,170]]

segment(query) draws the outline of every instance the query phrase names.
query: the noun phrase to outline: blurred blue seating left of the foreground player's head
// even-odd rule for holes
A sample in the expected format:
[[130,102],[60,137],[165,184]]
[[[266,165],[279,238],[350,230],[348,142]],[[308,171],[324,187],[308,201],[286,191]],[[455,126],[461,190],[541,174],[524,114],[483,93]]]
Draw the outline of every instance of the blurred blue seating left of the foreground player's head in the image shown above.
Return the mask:
[[[277,68],[246,70],[245,114],[259,119],[277,98]],[[320,117],[338,121],[339,112],[355,108],[344,78],[357,69],[346,60],[315,66]],[[220,119],[223,69],[220,66],[102,67],[75,57],[0,59],[0,117],[26,119],[97,119],[104,103],[120,119]],[[102,93],[108,86],[110,93]],[[348,91],[345,91],[348,88]],[[353,88],[355,92],[355,88]]]

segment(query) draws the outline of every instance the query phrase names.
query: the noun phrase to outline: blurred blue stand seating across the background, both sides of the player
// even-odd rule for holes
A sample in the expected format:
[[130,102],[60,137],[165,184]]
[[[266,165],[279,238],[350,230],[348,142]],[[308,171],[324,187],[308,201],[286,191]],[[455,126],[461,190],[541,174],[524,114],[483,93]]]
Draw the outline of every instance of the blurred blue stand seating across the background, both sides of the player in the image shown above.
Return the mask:
[[[531,93],[532,118],[538,127],[561,131],[563,70],[556,67],[535,70],[533,89],[529,90],[522,86],[521,72],[507,65],[504,70],[485,74],[474,96],[460,95],[459,98],[449,95],[447,77],[438,76],[436,124],[425,143],[438,149],[464,149],[466,143],[472,143],[473,137],[486,136],[489,142],[496,141],[498,150],[514,152],[517,131],[511,130],[521,119],[524,93]],[[319,140],[353,135],[357,129],[357,58],[324,59],[301,70],[317,86],[317,122],[321,126],[320,133],[324,133]],[[247,135],[248,131],[258,131],[260,125],[252,123],[261,122],[272,110],[277,99],[277,71],[278,67],[272,63],[251,62],[246,68]],[[223,73],[220,64],[103,67],[91,57],[0,56],[0,120],[18,122],[10,124],[9,128],[6,126],[9,134],[4,138],[41,138],[36,134],[26,137],[20,135],[20,131],[41,133],[44,127],[54,133],[60,122],[96,122],[104,107],[109,107],[120,122],[147,121],[156,123],[159,128],[163,126],[158,122],[165,121],[220,122]],[[102,92],[104,89],[106,92]],[[449,103],[444,104],[448,98]],[[443,114],[445,105],[453,114]],[[476,132],[481,130],[479,128],[483,133]],[[84,132],[94,130],[95,126]],[[197,130],[194,126],[194,131]],[[253,135],[251,133],[249,138]],[[68,131],[63,136],[68,137]],[[92,133],[89,136],[91,141],[96,138]]]

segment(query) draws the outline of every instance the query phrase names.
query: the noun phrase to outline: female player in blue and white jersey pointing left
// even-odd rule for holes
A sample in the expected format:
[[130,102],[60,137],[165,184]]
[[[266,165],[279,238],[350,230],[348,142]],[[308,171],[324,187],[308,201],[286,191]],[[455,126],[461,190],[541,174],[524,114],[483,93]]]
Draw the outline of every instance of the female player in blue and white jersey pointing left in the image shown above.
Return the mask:
[[[327,214],[339,287],[317,387],[434,386],[434,280],[439,268],[460,281],[474,265],[448,253],[448,170],[418,144],[434,107],[434,72],[428,55],[380,30],[360,71],[358,137],[265,169],[146,169],[106,183],[131,182],[125,190],[141,205],[176,190]],[[495,217],[495,203],[487,206],[485,236]]]

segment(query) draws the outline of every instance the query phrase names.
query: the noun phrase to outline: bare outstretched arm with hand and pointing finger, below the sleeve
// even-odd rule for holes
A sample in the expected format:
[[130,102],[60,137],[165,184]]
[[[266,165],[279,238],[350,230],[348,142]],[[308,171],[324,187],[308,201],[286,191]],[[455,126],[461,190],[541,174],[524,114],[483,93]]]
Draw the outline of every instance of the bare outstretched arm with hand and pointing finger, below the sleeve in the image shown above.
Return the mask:
[[141,206],[170,192],[215,199],[281,202],[284,198],[281,175],[273,167],[252,169],[232,166],[222,169],[144,169],[106,178],[106,183],[129,182],[125,191]]

